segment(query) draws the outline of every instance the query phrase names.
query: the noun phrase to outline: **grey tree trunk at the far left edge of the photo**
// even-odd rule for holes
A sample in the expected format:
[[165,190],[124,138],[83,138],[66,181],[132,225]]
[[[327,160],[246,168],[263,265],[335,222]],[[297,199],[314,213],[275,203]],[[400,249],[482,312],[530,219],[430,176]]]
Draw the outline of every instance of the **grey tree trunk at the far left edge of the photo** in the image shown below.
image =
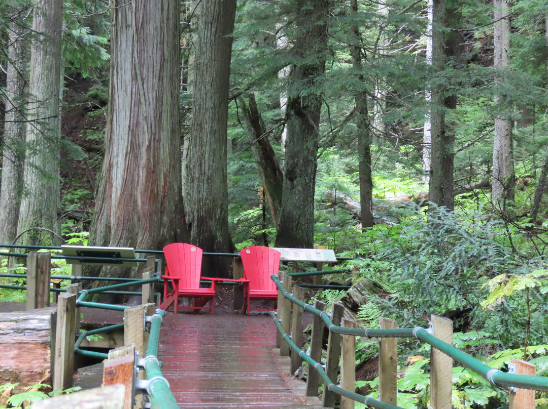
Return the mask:
[[25,156],[25,94],[27,87],[26,7],[14,10],[8,31],[8,62],[5,86],[4,148],[0,188],[0,243],[12,243],[17,236],[21,205],[23,159]]

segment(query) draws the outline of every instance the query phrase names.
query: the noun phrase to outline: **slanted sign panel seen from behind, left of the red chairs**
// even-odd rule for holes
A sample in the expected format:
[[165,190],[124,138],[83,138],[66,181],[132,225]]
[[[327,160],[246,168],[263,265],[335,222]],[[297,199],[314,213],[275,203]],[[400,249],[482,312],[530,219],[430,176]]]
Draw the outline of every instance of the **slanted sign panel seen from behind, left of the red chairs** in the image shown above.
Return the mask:
[[[63,255],[79,257],[67,259],[67,264],[103,264],[124,267],[136,267],[136,261],[119,259],[134,259],[133,247],[94,247],[94,246],[61,246]],[[93,257],[94,259],[86,259]]]

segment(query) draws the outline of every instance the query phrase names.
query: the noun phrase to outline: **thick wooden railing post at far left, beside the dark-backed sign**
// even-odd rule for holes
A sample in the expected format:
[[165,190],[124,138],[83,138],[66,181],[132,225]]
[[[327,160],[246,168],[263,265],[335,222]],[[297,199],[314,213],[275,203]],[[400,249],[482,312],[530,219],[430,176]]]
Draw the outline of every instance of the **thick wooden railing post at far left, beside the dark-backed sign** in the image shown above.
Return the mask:
[[52,254],[31,252],[27,255],[26,309],[49,307]]

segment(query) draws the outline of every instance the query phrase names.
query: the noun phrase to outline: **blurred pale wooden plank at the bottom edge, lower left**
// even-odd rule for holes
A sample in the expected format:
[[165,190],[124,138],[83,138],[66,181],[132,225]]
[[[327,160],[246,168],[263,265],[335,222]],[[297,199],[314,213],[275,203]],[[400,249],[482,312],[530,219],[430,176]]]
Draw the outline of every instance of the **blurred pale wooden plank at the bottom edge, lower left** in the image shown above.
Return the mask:
[[123,409],[124,386],[111,385],[104,388],[83,390],[33,402],[33,409]]

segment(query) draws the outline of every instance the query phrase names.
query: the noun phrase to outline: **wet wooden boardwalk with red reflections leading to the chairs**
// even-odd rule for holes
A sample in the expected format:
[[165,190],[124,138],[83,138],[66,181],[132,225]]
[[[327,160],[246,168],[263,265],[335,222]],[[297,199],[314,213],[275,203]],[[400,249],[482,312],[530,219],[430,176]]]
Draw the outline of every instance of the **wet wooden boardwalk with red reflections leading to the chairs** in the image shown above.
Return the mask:
[[177,314],[164,317],[162,373],[182,408],[319,409],[305,384],[288,375],[267,315]]

